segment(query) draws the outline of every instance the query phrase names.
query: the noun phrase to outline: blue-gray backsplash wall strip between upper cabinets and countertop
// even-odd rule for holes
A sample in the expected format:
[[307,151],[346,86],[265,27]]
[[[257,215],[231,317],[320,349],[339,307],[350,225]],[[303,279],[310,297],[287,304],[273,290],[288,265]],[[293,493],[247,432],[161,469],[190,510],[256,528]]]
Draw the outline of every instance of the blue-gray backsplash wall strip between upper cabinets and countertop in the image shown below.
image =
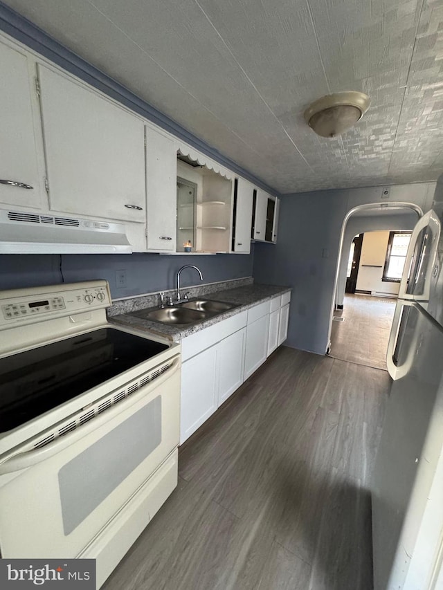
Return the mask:
[[[38,285],[107,279],[112,297],[140,295],[174,288],[177,270],[198,266],[204,283],[251,277],[250,255],[161,256],[158,254],[0,255],[0,290]],[[127,287],[117,288],[116,271],[125,270]],[[183,286],[199,283],[195,270],[184,270]]]

